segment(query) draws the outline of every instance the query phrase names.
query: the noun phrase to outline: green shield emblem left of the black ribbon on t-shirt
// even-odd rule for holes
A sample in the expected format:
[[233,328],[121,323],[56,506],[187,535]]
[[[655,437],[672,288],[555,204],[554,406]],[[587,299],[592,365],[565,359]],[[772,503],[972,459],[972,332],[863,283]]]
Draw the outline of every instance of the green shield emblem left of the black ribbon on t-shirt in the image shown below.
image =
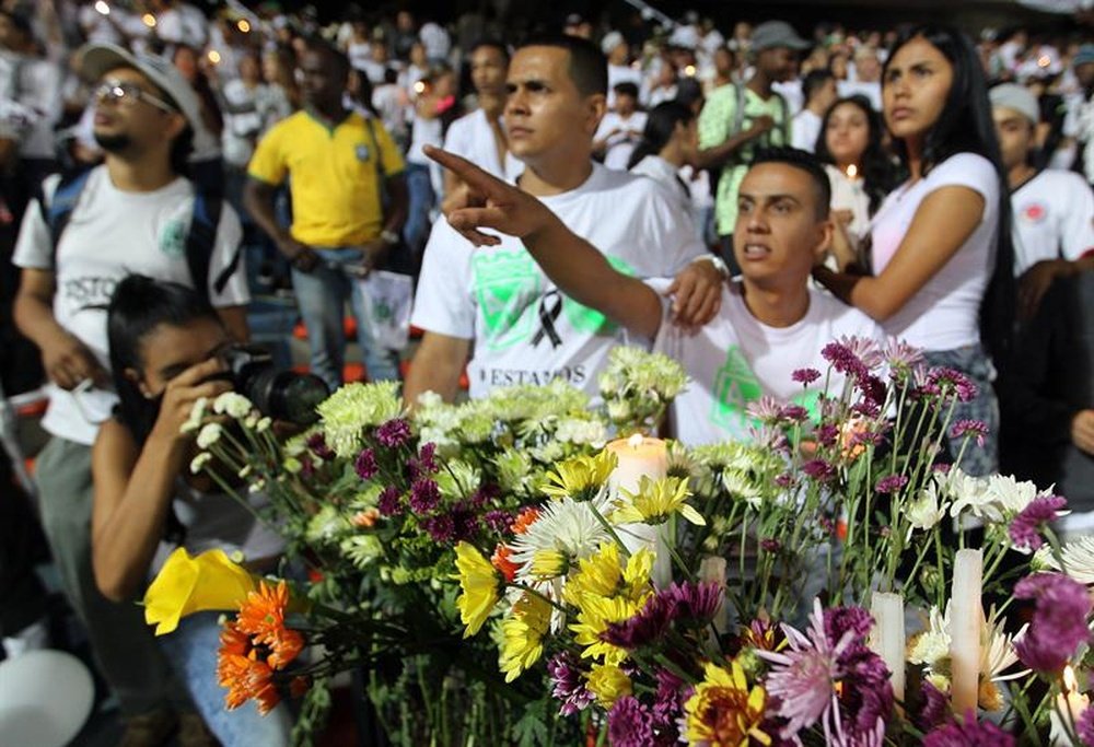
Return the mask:
[[486,325],[488,350],[504,350],[532,336],[543,277],[524,248],[484,249],[472,257],[475,299]]

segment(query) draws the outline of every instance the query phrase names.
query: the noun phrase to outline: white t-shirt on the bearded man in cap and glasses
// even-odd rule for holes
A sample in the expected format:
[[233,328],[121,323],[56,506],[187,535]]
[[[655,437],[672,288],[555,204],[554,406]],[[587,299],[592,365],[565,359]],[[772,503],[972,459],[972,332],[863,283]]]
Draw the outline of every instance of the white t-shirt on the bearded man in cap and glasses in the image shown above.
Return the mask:
[[[59,177],[51,176],[43,185],[49,199],[58,182]],[[125,192],[110,182],[105,165],[97,166],[61,234],[56,262],[49,226],[37,201],[26,209],[12,261],[18,267],[56,273],[54,317],[109,371],[106,305],[115,285],[135,272],[191,285],[186,236],[193,212],[194,186],[184,178],[151,192]],[[243,258],[237,258],[241,237],[240,219],[225,201],[209,264],[209,297],[214,306],[240,306],[249,301]],[[217,293],[217,277],[236,258],[235,272],[223,292]],[[48,389],[49,410],[43,428],[90,446],[98,423],[110,417],[117,397],[100,388],[79,396],[54,385]]]

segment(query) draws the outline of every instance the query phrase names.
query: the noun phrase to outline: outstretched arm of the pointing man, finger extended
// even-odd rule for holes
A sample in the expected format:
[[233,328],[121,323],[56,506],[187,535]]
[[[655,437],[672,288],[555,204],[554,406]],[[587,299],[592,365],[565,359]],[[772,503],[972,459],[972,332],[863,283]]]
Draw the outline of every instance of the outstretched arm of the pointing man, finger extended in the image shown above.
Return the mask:
[[479,231],[484,227],[521,238],[544,272],[568,296],[635,334],[656,336],[662,306],[653,289],[618,272],[592,244],[531,195],[458,155],[428,147],[426,154],[486,197],[486,207],[464,208],[449,215],[449,223],[465,238],[476,246],[497,244],[497,236]]

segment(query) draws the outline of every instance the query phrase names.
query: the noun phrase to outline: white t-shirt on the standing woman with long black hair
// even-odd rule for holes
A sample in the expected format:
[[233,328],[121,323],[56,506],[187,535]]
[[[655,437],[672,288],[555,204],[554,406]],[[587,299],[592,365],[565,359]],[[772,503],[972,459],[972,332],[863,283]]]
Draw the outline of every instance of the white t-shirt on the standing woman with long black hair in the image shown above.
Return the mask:
[[881,275],[904,241],[920,202],[942,187],[968,187],[984,197],[984,215],[957,253],[904,308],[885,320],[885,331],[923,350],[954,350],[980,341],[980,300],[988,287],[999,222],[999,176],[975,153],[952,155],[924,178],[892,192],[872,224],[873,270]]

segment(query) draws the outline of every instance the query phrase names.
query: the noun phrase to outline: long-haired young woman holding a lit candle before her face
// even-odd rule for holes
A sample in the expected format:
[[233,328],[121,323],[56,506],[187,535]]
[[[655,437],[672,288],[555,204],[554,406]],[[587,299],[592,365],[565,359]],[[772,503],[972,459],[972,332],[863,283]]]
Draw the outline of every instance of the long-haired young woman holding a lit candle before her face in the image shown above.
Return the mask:
[[814,152],[831,183],[833,249],[839,268],[860,261],[870,221],[896,186],[893,162],[882,145],[884,125],[863,96],[837,100],[821,119]]

